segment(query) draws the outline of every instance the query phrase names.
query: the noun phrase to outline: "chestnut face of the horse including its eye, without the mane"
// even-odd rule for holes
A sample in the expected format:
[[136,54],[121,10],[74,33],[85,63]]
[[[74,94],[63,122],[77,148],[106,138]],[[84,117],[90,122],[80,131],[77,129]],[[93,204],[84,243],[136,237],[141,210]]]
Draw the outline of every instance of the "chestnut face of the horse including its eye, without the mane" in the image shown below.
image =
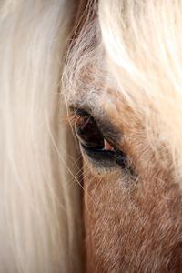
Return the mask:
[[[83,157],[87,271],[179,272],[181,192],[168,138],[158,131],[161,97],[149,100],[138,86],[130,101],[105,78],[103,51],[89,64],[93,52],[89,59],[83,45],[76,45],[83,56],[67,102]],[[130,80],[122,69],[119,75]]]

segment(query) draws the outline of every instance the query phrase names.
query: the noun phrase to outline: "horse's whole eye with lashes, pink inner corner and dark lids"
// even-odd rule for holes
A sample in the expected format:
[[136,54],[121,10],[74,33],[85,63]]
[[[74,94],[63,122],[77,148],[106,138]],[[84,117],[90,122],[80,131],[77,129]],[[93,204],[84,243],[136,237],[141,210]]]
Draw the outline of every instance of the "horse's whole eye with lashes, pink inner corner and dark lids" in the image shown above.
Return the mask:
[[127,168],[126,155],[106,140],[93,116],[85,111],[72,109],[71,123],[75,126],[80,146],[89,157],[99,160],[102,158],[102,162],[109,158],[115,159],[117,165]]

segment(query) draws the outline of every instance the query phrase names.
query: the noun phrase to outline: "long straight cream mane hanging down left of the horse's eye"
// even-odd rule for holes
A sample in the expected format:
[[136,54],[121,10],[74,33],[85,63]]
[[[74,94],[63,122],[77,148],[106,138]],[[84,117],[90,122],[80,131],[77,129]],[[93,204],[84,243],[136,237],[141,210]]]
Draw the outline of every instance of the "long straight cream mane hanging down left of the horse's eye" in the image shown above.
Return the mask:
[[59,87],[75,14],[76,1],[0,4],[0,272],[81,271],[79,164]]

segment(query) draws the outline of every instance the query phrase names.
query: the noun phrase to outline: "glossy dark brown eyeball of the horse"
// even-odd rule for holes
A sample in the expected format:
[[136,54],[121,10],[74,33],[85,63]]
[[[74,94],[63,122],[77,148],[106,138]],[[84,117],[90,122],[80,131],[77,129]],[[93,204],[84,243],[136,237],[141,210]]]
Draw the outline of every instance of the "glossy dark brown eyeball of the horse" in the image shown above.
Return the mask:
[[76,134],[84,146],[96,149],[104,148],[104,137],[92,116],[84,117],[79,125],[76,125]]

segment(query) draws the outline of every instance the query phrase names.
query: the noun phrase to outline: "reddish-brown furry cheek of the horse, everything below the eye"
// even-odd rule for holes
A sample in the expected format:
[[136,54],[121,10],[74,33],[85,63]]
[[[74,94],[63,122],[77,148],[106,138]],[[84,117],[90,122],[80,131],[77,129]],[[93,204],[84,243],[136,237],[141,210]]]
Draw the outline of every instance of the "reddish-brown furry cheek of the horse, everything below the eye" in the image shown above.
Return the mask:
[[83,174],[86,272],[180,272],[178,185],[152,176],[132,185],[125,173],[85,160]]

